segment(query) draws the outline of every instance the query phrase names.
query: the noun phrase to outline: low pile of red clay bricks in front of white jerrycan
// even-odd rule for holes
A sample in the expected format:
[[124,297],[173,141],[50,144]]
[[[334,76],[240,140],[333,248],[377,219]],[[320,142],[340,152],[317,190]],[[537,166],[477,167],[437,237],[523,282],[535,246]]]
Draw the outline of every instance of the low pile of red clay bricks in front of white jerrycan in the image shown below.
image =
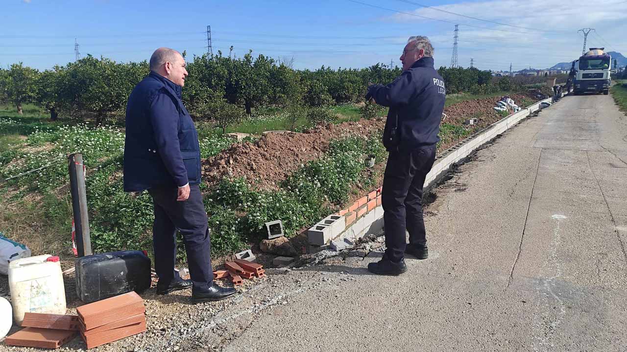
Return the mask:
[[10,346],[59,348],[78,332],[78,316],[65,314],[26,313],[24,329],[7,336]]

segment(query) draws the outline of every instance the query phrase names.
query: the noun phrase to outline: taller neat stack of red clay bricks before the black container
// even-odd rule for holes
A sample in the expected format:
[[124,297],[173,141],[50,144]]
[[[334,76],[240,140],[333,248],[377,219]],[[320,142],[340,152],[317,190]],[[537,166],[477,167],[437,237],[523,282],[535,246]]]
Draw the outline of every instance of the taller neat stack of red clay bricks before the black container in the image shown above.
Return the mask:
[[146,331],[144,301],[135,292],[76,308],[80,334],[87,348]]

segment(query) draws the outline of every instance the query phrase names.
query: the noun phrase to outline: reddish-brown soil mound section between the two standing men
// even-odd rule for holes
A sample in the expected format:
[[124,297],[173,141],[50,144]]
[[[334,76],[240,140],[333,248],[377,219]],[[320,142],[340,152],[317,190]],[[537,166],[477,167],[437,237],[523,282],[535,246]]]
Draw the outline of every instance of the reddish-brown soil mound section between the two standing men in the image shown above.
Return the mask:
[[385,125],[383,118],[328,124],[305,133],[268,133],[255,143],[237,143],[203,161],[203,178],[210,187],[224,176],[243,177],[259,189],[277,189],[301,165],[316,160],[331,140],[348,135],[369,136]]

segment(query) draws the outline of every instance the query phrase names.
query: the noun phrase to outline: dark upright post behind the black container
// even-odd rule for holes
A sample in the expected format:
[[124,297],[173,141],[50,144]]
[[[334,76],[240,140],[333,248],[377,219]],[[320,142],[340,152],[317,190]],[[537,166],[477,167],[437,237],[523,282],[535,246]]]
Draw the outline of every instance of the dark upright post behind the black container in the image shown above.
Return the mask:
[[74,227],[76,229],[76,251],[79,257],[90,256],[92,254],[92,241],[89,237],[83,155],[70,154],[68,169],[70,170],[70,193],[72,196]]

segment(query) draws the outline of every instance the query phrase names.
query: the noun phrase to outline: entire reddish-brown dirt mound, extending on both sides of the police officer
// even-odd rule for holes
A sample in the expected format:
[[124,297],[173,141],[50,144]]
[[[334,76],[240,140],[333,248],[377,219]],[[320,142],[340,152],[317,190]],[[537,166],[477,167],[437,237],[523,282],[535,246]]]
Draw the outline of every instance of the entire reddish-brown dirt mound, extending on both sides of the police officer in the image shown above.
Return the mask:
[[[524,95],[512,95],[517,103]],[[527,97],[528,98],[528,97]],[[529,98],[528,98],[529,99]],[[500,97],[462,101],[445,108],[448,115],[443,123],[462,125],[468,118],[477,118],[473,128],[480,129],[502,118],[493,110]],[[215,157],[203,161],[203,178],[214,187],[224,176],[243,177],[258,189],[273,190],[301,165],[316,160],[329,149],[331,140],[347,135],[368,136],[382,130],[385,118],[328,124],[305,133],[268,133],[255,143],[236,143]],[[456,142],[444,143],[440,150]]]

